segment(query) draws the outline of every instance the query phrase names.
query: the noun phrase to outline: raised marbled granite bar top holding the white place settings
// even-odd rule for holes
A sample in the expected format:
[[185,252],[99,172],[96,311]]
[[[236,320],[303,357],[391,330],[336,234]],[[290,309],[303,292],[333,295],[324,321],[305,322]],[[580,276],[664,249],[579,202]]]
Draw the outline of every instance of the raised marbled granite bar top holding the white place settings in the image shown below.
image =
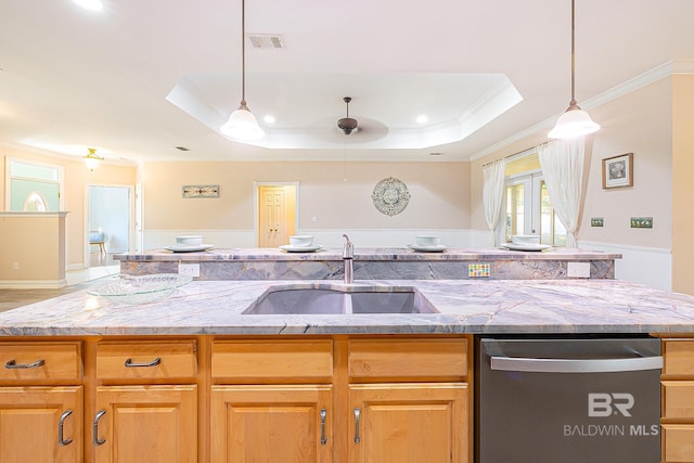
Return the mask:
[[[343,260],[342,248],[321,248],[314,253],[287,253],[279,248],[211,248],[196,253],[152,249],[144,253],[116,254],[114,260]],[[621,254],[578,248],[553,247],[542,252],[517,252],[503,248],[454,248],[441,253],[421,253],[408,247],[355,248],[355,260],[614,260]]]

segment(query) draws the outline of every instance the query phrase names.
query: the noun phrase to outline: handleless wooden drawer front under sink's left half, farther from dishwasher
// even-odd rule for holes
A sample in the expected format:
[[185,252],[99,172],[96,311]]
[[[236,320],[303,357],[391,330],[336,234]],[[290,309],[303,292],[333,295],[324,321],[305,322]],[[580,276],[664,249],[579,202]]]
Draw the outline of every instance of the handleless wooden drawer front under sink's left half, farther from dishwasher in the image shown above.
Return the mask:
[[316,340],[217,340],[213,343],[213,378],[233,383],[265,380],[330,382],[333,343]]

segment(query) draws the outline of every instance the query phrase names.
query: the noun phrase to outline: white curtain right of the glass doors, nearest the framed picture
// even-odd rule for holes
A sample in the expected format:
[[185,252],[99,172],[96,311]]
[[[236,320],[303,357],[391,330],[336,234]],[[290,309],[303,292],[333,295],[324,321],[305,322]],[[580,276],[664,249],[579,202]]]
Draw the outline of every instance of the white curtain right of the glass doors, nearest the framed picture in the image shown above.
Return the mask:
[[586,139],[555,140],[538,147],[554,214],[566,228],[566,247],[576,247],[581,213]]

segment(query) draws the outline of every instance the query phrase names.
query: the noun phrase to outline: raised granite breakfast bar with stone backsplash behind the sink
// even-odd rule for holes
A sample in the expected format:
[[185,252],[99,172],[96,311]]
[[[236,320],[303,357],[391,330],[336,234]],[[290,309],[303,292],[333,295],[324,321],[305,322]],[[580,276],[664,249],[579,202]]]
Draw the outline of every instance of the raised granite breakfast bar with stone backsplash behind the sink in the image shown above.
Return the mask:
[[[356,280],[532,280],[613,279],[620,254],[553,247],[542,252],[503,248],[446,248],[437,253],[407,247],[354,250]],[[198,265],[198,280],[342,280],[343,249],[290,253],[280,248],[211,248],[174,253],[152,249],[114,256],[129,275],[178,273],[180,263]],[[571,272],[576,271],[576,274]]]

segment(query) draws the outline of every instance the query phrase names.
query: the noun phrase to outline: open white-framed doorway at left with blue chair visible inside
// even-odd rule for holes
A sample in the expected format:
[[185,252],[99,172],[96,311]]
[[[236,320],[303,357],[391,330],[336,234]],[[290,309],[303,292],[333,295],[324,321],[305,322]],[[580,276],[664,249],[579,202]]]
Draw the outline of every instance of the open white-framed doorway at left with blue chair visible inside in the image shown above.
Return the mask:
[[[87,187],[85,267],[112,266],[113,254],[131,249],[133,197],[130,185]],[[92,236],[103,243],[94,244]]]

